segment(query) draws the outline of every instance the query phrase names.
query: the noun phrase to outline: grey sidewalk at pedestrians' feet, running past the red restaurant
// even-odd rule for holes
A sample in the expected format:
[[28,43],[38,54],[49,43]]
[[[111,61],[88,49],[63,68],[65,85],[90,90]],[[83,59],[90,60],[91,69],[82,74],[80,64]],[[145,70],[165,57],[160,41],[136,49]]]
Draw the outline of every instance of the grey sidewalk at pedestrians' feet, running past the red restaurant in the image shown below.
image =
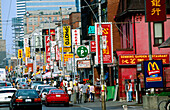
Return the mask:
[[[87,102],[87,103],[80,103],[80,104],[73,104],[73,106],[81,106],[81,107],[99,107],[101,106],[101,102],[99,98],[95,98],[94,102]],[[116,107],[116,106],[122,106],[122,105],[127,105],[127,106],[141,106],[142,104],[138,104],[137,102],[126,102],[126,101],[106,101],[106,107]]]

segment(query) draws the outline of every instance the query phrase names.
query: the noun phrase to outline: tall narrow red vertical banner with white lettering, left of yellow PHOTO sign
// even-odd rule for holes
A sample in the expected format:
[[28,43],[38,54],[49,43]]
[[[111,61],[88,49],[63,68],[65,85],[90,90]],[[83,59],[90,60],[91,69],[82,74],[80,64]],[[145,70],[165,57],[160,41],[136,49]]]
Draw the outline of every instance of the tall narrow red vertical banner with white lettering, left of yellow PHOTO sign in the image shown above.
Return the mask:
[[46,44],[46,63],[50,63],[50,38],[49,36],[45,36],[45,44]]

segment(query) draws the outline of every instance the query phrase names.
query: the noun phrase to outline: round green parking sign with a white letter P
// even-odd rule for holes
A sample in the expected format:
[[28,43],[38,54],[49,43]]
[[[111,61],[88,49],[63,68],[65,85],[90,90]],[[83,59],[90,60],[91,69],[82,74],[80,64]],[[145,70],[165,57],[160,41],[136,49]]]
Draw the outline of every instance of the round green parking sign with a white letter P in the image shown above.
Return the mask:
[[77,55],[78,55],[80,58],[86,57],[87,54],[88,54],[88,49],[87,49],[85,46],[80,46],[80,47],[77,49]]

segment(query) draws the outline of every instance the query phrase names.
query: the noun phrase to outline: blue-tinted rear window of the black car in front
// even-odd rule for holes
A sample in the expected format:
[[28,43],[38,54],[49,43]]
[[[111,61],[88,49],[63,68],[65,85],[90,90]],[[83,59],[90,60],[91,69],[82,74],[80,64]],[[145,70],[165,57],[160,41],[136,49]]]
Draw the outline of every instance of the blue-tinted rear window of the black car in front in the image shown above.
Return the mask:
[[17,96],[37,96],[38,93],[35,90],[19,90]]

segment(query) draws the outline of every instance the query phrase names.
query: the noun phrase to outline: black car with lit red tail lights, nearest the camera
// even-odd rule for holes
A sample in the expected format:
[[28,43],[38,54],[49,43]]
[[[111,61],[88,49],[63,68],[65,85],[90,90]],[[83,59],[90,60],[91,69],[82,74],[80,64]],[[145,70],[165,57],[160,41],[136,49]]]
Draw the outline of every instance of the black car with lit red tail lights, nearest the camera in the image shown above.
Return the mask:
[[36,90],[19,89],[12,96],[9,108],[10,110],[42,110],[42,102]]

